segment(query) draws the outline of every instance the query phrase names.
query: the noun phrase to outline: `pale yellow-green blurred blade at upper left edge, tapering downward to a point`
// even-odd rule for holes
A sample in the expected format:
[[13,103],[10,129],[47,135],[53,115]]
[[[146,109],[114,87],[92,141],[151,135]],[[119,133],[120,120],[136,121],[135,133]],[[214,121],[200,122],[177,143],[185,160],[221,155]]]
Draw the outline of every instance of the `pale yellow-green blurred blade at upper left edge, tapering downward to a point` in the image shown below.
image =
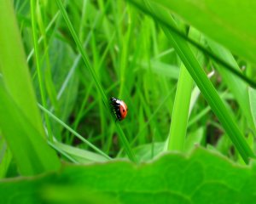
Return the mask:
[[9,94],[39,136],[45,137],[12,3],[0,1],[0,71]]

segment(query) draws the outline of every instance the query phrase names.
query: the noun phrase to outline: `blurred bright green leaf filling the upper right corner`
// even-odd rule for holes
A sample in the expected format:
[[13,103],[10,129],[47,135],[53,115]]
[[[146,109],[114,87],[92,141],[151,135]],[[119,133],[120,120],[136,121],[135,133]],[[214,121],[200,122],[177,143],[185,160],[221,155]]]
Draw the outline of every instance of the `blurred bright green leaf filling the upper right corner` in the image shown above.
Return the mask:
[[169,8],[208,37],[256,63],[255,1],[150,1]]

